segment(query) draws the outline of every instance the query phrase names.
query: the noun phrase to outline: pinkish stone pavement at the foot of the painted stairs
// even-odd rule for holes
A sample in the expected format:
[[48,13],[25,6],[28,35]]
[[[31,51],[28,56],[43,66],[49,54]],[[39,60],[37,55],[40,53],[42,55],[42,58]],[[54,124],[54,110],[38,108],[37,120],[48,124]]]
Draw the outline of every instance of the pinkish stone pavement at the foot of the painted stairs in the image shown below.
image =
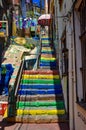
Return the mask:
[[8,123],[0,116],[0,130],[69,130],[68,123],[22,124]]

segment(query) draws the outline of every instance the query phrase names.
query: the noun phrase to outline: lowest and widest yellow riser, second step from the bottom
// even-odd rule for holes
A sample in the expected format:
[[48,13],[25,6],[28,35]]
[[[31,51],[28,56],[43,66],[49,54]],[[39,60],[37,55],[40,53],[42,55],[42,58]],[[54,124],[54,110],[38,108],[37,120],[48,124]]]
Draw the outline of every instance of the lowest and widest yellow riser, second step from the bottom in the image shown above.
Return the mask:
[[18,115],[63,115],[65,114],[65,110],[17,110],[17,116]]

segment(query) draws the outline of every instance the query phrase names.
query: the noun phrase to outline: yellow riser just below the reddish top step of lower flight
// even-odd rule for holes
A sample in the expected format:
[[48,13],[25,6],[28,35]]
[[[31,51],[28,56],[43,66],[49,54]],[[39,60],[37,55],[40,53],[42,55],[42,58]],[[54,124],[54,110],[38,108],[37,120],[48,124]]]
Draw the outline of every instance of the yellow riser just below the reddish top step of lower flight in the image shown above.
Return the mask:
[[59,75],[22,75],[22,79],[59,79]]

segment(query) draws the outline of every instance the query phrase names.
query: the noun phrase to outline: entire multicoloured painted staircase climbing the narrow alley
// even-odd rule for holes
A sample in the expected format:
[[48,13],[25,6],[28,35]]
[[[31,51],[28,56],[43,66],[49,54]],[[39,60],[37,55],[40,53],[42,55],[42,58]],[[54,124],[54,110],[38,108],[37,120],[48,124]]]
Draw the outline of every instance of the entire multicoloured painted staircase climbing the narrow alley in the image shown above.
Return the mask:
[[[47,46],[46,46],[47,45]],[[61,80],[50,38],[42,38],[37,70],[23,70],[15,116],[8,121],[55,123],[66,121]]]

